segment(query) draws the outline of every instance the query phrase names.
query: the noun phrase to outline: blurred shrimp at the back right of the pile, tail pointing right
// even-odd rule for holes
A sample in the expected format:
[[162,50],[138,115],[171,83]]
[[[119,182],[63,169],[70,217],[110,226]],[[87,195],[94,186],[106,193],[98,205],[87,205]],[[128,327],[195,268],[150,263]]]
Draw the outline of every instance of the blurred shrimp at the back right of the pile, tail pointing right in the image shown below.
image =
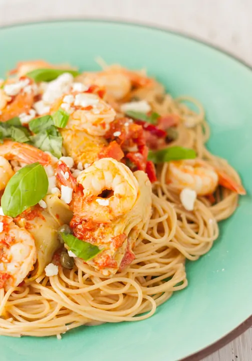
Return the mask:
[[95,84],[106,90],[115,100],[126,97],[132,87],[145,87],[153,80],[142,72],[130,71],[118,65],[107,67],[101,72],[84,73],[80,77],[84,84]]

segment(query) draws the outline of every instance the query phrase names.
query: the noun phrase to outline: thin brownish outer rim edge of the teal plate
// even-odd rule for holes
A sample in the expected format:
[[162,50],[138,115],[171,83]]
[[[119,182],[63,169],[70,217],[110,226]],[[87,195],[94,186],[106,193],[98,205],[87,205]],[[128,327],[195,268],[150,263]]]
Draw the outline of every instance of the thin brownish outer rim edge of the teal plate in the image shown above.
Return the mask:
[[[160,26],[155,23],[151,22],[145,22],[145,21],[128,21],[124,18],[120,17],[95,17],[95,16],[70,16],[67,18],[40,18],[38,21],[25,21],[25,22],[17,22],[17,23],[11,23],[7,25],[0,26],[0,32],[5,29],[12,29],[12,28],[18,28],[18,27],[25,27],[25,26],[33,26],[33,25],[39,25],[39,24],[52,24],[52,23],[65,23],[65,22],[76,22],[76,23],[83,23],[83,22],[94,22],[94,23],[108,23],[108,24],[117,24],[117,25],[127,25],[127,26],[136,26],[140,28],[145,29],[152,29],[152,30],[158,30],[163,33],[172,34],[179,36],[181,38],[189,39],[194,41],[195,43],[199,43],[201,45],[204,45],[208,48],[214,49],[215,51],[224,54],[228,58],[235,60],[240,65],[244,66],[247,70],[252,72],[252,65],[248,64],[243,59],[239,58],[238,56],[232,54],[226,49],[221,48],[218,45],[212,44],[211,42],[202,40],[198,38],[197,36],[188,34],[186,32],[181,32],[178,30],[170,29],[166,26]],[[212,354],[213,352],[217,351],[218,349],[224,347],[229,342],[233,341],[235,338],[239,337],[242,333],[244,333],[248,328],[252,326],[252,313],[251,315],[246,318],[243,322],[241,322],[237,327],[230,330],[228,333],[226,333],[223,337],[217,339],[215,342],[209,344],[208,346],[191,353],[190,355],[181,358],[178,361],[200,361],[203,357],[207,357],[208,355]]]

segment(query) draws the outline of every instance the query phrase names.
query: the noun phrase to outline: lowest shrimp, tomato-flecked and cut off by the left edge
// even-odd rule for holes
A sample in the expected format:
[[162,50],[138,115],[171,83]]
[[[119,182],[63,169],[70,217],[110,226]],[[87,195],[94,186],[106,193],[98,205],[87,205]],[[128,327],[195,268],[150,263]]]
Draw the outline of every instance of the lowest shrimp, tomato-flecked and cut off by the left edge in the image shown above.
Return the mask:
[[34,238],[19,228],[11,217],[0,216],[0,288],[18,286],[33,269],[37,259]]

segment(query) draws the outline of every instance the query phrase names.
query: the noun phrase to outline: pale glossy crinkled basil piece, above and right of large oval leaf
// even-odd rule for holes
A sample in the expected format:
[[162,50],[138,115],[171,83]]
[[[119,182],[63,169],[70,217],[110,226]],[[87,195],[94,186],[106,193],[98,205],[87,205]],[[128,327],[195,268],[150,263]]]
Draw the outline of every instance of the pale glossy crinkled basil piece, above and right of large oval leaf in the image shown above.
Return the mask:
[[49,151],[57,158],[62,156],[62,136],[55,126],[30,137],[32,144],[43,151]]

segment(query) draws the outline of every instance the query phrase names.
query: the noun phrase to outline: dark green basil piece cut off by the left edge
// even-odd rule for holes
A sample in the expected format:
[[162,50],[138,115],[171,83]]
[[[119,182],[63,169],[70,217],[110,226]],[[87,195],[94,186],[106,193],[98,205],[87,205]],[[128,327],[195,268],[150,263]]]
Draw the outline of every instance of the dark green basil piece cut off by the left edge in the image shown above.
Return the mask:
[[19,117],[0,123],[0,141],[12,139],[20,143],[26,143],[30,140],[29,136],[29,130],[22,126]]

